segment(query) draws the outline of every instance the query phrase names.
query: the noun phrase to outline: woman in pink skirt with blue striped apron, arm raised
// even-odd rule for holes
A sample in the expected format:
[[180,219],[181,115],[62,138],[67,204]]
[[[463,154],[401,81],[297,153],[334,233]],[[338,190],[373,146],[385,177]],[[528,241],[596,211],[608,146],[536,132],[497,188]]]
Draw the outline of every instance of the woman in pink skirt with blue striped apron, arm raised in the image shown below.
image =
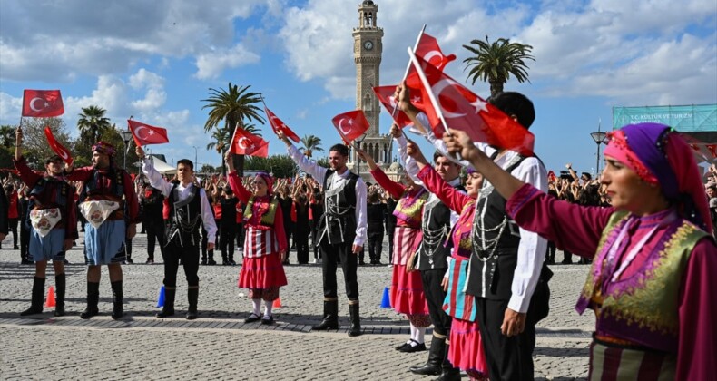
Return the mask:
[[463,193],[441,179],[437,171],[428,164],[416,143],[408,143],[408,154],[417,162],[420,169],[418,178],[423,181],[424,186],[436,194],[448,208],[458,213],[458,220],[451,232],[451,260],[444,278],[447,295],[443,310],[453,318],[448,337],[448,360],[453,366],[466,371],[470,379],[487,379],[488,366],[478,327],[476,304],[474,297],[464,291],[473,247],[471,239],[476,199],[483,185],[483,176],[468,170],[467,193]]

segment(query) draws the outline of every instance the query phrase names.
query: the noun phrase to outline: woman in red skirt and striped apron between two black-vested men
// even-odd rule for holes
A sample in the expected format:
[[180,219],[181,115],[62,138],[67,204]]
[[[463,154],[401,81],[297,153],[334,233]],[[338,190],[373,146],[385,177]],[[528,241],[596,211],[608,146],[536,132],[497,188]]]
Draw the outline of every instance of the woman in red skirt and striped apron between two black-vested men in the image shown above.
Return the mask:
[[[241,178],[234,170],[233,153],[227,153],[229,185],[242,203],[244,210],[244,263],[239,273],[239,287],[249,288],[253,309],[247,323],[261,319],[261,324],[271,324],[274,318],[271,308],[279,298],[279,288],[287,285],[284,267],[287,240],[279,201],[271,195],[272,180],[266,173],[259,173],[252,181],[254,192],[244,188]],[[260,315],[261,299],[264,299],[264,316]]]

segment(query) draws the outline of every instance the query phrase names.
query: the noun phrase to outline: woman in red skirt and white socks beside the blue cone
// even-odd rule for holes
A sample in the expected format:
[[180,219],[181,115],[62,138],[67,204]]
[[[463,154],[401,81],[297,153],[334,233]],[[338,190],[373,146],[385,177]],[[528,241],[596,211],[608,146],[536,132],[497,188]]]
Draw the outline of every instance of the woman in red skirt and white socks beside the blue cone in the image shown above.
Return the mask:
[[[363,161],[368,163],[371,175],[378,184],[390,194],[398,204],[394,215],[396,216],[396,230],[394,232],[393,276],[391,277],[390,298],[391,305],[399,314],[406,314],[411,327],[411,337],[406,343],[396,347],[400,352],[418,352],[426,350],[424,339],[426,328],[431,325],[428,315],[426,296],[423,292],[421,274],[413,271],[412,264],[408,262],[416,253],[421,242],[421,213],[423,205],[428,200],[428,192],[422,186],[413,182],[406,176],[406,186],[391,181],[376,162],[366,153],[357,150]],[[409,259],[410,258],[410,259]],[[411,269],[408,269],[408,267]]]

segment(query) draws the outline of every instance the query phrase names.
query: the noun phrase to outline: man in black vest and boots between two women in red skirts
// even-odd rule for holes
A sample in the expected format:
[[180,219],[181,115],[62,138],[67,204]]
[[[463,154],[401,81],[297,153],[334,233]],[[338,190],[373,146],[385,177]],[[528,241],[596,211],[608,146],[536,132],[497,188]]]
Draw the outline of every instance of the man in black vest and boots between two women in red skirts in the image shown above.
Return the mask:
[[[398,151],[405,152],[407,144],[406,137],[400,136]],[[402,156],[405,157],[403,153]],[[438,175],[444,181],[457,190],[466,191],[460,184],[460,168],[457,164],[438,152],[433,155],[433,162]],[[407,159],[406,171],[414,182],[423,184],[417,178],[418,165],[413,158]],[[428,313],[433,323],[433,338],[426,364],[410,367],[411,372],[417,375],[441,375],[442,379],[460,377],[460,371],[448,361],[450,343],[447,338],[450,335],[451,317],[443,311],[443,301],[446,298],[443,281],[451,251],[445,242],[457,220],[457,212],[450,210],[436,194],[431,193],[428,196],[421,221],[423,239],[417,250],[414,267],[421,272]]]

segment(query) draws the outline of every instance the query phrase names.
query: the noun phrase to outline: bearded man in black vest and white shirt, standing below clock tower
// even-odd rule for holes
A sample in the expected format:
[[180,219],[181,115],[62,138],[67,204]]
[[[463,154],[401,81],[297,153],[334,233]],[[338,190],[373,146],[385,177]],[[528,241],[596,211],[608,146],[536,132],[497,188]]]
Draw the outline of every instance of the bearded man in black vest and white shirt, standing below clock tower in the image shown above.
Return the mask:
[[367,239],[366,183],[359,175],[349,171],[349,148],[335,144],[329,149],[330,169],[319,166],[291,144],[282,131],[277,132],[279,139],[286,143],[291,158],[299,164],[302,171],[324,185],[324,215],[319,219],[319,239],[323,261],[324,314],[323,320],[313,329],[339,328],[339,299],[337,298],[336,268],[337,259],[341,261],[346,284],[346,296],[349,298],[351,327],[349,336],[361,334],[359,316],[359,282],[356,277],[358,254]]

